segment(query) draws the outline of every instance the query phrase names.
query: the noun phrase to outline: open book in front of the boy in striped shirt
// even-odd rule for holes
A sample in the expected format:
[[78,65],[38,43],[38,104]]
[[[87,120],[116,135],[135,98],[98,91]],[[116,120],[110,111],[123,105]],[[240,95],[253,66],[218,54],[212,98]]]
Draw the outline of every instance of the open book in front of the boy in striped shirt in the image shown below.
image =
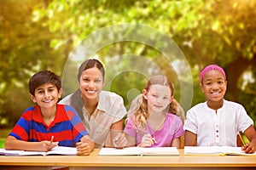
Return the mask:
[[56,146],[52,150],[44,151],[26,151],[26,150],[4,150],[0,149],[0,155],[3,156],[48,156],[48,155],[66,155],[76,156],[77,149],[66,146]]

